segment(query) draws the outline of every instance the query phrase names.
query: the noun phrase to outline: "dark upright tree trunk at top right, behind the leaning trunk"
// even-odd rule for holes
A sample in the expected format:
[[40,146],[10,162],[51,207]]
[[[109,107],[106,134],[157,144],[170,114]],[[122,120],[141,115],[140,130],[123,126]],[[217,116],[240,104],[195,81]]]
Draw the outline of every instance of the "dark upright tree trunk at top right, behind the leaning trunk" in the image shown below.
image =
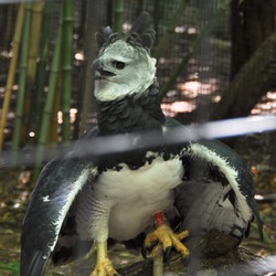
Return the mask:
[[274,0],[232,0],[232,78],[274,32]]

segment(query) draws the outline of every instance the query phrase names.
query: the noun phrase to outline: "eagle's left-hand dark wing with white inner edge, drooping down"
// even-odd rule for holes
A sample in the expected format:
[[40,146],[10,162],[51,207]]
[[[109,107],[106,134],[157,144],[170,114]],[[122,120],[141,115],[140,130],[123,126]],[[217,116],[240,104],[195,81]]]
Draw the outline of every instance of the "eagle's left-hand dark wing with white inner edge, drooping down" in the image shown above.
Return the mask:
[[67,155],[47,163],[31,195],[21,236],[21,276],[42,275],[63,221],[93,164]]

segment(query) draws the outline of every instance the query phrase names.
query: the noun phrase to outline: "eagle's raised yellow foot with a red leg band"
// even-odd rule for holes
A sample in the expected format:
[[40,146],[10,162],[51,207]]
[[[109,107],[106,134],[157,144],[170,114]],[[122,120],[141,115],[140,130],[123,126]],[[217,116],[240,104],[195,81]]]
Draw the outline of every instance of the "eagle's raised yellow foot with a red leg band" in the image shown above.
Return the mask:
[[[189,250],[181,243],[181,240],[189,235],[187,230],[179,234],[173,233],[162,212],[155,213],[155,224],[156,230],[149,233],[145,238],[142,251],[144,257],[149,257],[149,252],[152,247],[158,246],[159,243],[162,245],[164,258],[168,257],[172,247],[180,252],[183,257],[189,255]],[[155,258],[155,250],[151,251],[150,256]]]

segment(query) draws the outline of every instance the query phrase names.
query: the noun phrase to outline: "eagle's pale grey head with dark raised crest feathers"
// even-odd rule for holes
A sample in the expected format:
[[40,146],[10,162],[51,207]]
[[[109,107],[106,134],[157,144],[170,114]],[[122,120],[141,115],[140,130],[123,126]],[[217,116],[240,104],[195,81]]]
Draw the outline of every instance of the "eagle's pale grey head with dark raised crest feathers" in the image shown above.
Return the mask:
[[95,97],[99,102],[144,93],[155,82],[156,60],[150,56],[155,31],[142,12],[131,30],[120,36],[109,26],[97,33],[99,55],[95,70]]

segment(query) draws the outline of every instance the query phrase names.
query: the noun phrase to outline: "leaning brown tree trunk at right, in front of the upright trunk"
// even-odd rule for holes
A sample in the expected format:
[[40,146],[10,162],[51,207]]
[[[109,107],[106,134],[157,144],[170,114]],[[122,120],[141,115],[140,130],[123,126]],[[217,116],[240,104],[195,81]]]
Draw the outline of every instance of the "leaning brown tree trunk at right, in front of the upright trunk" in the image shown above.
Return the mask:
[[211,119],[247,116],[259,98],[275,88],[275,60],[276,33],[273,33],[235,74]]

